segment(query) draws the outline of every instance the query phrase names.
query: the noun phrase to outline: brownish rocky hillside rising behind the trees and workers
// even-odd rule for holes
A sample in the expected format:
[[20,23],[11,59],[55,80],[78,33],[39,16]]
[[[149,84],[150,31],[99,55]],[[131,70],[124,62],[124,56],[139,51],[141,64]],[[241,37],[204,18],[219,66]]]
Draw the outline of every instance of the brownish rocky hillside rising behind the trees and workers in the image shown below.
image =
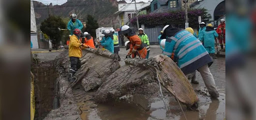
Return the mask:
[[71,13],[75,13],[79,18],[79,12],[83,22],[86,22],[87,14],[92,15],[98,22],[99,26],[112,27],[113,23],[117,23],[117,17],[114,12],[118,10],[116,0],[68,0],[62,5],[44,5],[41,2],[33,1],[35,20],[37,28],[40,23],[50,15],[57,15],[63,18],[69,18]]

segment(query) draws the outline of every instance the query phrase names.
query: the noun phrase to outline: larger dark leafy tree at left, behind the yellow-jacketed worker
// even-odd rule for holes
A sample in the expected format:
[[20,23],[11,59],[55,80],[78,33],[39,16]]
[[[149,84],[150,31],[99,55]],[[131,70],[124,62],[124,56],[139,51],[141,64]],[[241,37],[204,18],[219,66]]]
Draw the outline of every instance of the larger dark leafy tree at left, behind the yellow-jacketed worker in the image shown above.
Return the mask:
[[41,31],[48,35],[52,40],[53,48],[55,49],[57,49],[59,45],[62,34],[62,32],[58,30],[58,27],[65,28],[66,25],[60,17],[52,15],[50,15],[47,19],[44,19],[40,26]]

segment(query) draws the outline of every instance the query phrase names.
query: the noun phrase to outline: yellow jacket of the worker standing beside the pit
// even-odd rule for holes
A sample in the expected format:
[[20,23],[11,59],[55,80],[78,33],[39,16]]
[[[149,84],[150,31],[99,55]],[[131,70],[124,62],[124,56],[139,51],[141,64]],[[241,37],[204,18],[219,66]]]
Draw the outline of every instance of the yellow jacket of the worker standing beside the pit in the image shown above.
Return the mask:
[[73,34],[69,37],[69,46],[68,46],[68,56],[69,57],[82,57],[82,49],[80,48],[81,42],[78,38]]

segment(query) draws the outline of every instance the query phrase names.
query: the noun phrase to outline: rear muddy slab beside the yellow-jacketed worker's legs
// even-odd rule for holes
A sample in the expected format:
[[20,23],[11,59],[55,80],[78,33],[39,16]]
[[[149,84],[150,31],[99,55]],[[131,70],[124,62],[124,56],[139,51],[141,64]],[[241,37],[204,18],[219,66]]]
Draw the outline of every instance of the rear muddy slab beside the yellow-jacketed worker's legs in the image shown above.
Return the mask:
[[[63,51],[56,60],[68,73],[68,50]],[[85,91],[97,89],[106,77],[120,68],[119,57],[103,49],[84,49],[80,60],[81,68],[75,73],[77,80],[74,86],[82,84]]]

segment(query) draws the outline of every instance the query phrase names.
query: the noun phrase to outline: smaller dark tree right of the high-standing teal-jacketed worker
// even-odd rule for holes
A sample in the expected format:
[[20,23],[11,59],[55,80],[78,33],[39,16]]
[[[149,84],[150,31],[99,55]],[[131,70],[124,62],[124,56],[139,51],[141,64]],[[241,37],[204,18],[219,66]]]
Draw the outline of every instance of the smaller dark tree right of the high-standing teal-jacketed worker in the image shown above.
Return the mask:
[[[91,34],[91,36],[93,38],[95,38],[96,36],[96,29],[98,28],[98,23],[97,23],[97,20],[94,20],[93,16],[92,15],[87,15],[87,22],[86,22],[86,28],[83,29],[84,31],[87,31],[88,33]],[[82,31],[83,31],[82,30]],[[83,31],[83,32],[84,32]]]

